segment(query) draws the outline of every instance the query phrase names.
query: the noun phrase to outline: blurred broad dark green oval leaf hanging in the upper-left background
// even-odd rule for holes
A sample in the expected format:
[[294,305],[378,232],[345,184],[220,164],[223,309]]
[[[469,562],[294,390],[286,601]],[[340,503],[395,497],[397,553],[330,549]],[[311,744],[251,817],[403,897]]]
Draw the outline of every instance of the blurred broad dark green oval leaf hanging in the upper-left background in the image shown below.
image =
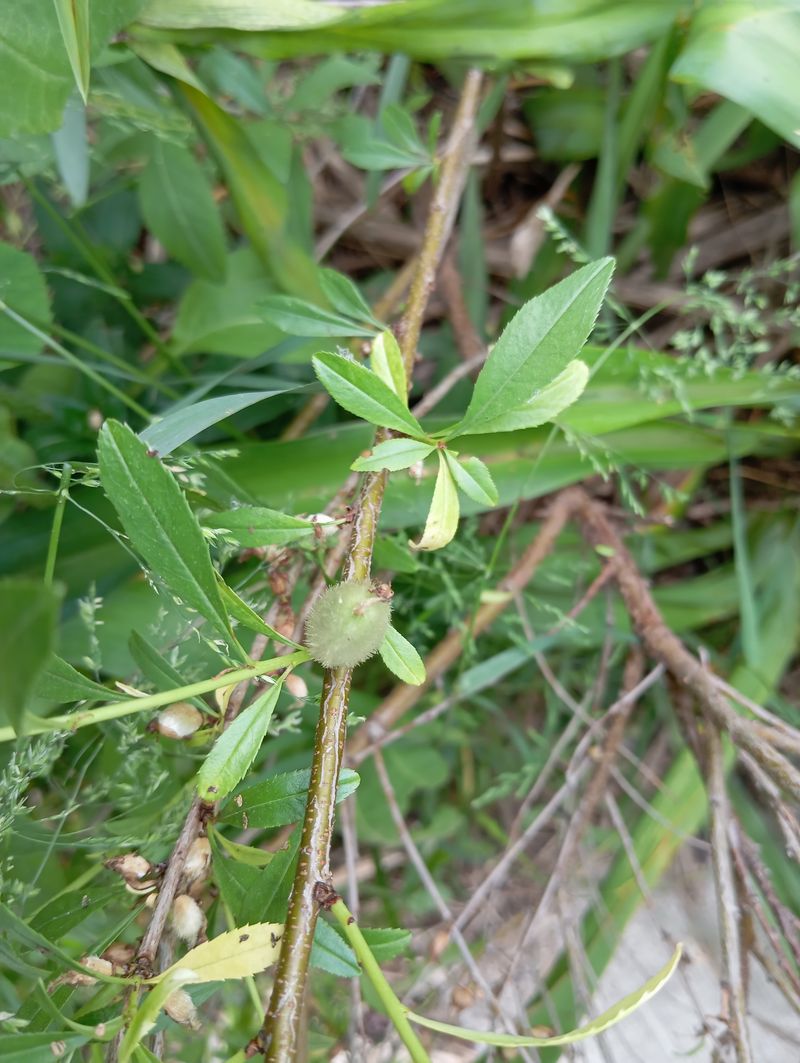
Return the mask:
[[225,234],[211,186],[192,153],[150,138],[139,178],[139,203],[150,232],[173,258],[208,281],[225,279]]

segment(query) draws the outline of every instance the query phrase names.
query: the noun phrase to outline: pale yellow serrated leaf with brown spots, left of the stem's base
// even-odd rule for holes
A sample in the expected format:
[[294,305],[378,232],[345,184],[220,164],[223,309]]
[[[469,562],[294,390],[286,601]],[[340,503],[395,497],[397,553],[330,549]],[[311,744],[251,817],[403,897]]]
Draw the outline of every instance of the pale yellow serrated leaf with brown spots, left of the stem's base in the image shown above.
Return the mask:
[[221,982],[257,975],[277,959],[283,935],[283,923],[254,923],[228,930],[189,949],[157,981],[174,971],[189,971],[193,982]]

